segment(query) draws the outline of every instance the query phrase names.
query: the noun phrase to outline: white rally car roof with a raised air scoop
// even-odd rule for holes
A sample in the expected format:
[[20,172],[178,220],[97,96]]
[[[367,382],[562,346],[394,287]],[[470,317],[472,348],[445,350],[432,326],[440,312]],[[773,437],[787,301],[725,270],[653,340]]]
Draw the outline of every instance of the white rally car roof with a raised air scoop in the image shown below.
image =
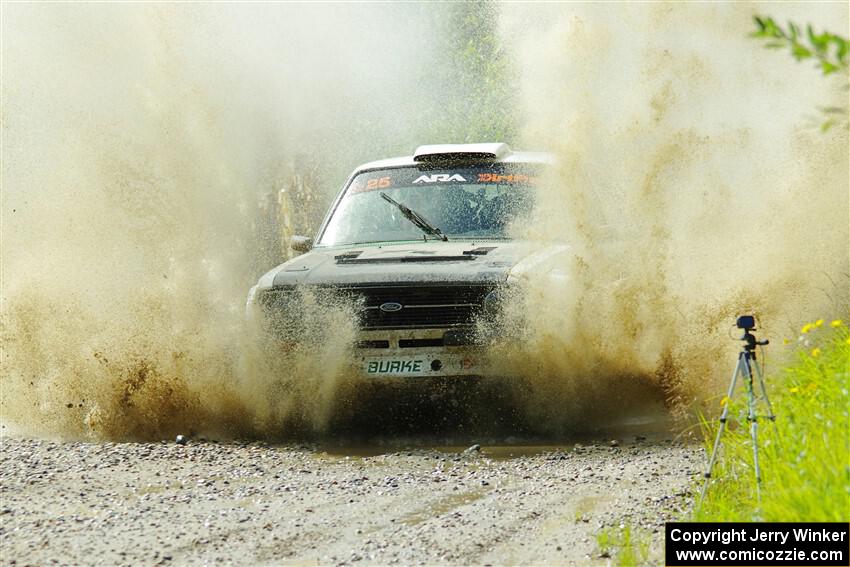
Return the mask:
[[546,152],[515,152],[503,143],[483,144],[438,144],[419,146],[413,155],[370,161],[359,166],[355,174],[371,169],[386,169],[433,163],[435,160],[446,159],[449,163],[462,161],[470,163],[541,163],[550,164],[554,161],[551,154]]

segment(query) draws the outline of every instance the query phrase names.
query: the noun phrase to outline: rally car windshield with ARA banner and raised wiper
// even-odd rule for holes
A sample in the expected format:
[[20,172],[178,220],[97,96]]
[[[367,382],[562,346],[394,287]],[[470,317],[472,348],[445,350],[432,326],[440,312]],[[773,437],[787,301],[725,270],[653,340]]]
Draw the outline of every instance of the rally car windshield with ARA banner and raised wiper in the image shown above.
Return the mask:
[[539,166],[515,164],[367,171],[346,188],[319,245],[434,238],[410,211],[449,240],[506,239],[531,213],[539,174]]

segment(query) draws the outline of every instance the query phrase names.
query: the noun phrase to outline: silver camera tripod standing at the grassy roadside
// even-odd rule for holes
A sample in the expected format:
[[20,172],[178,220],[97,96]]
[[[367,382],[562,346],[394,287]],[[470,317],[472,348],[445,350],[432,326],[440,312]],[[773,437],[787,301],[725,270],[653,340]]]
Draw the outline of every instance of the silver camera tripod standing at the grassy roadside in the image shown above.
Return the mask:
[[[732,383],[729,384],[729,391],[726,394],[726,404],[723,406],[723,413],[720,414],[720,427],[717,430],[717,437],[714,438],[714,448],[711,450],[711,458],[708,461],[708,468],[705,471],[705,484],[702,486],[700,494],[700,506],[705,498],[708,483],[711,480],[711,469],[714,468],[714,462],[717,460],[717,449],[720,448],[720,437],[723,435],[723,430],[726,428],[726,420],[729,416],[729,406],[732,402],[732,396],[735,395],[735,386],[738,383],[738,376],[742,375],[747,384],[747,421],[750,423],[750,438],[753,442],[753,464],[756,473],[756,499],[761,502],[761,469],[759,468],[759,446],[758,446],[758,418],[756,414],[756,394],[753,386],[753,367],[756,369],[756,376],[761,387],[762,395],[764,396],[765,405],[767,405],[767,418],[770,421],[775,421],[776,416],[773,414],[773,407],[770,405],[770,399],[767,397],[767,388],[764,385],[764,374],[762,373],[761,365],[756,360],[756,346],[764,346],[770,341],[756,340],[755,335],[751,331],[752,327],[744,329],[744,336],[741,340],[744,341],[744,346],[741,352],[738,353],[738,364],[735,365],[735,372],[732,373]],[[765,416],[761,416],[765,417]]]

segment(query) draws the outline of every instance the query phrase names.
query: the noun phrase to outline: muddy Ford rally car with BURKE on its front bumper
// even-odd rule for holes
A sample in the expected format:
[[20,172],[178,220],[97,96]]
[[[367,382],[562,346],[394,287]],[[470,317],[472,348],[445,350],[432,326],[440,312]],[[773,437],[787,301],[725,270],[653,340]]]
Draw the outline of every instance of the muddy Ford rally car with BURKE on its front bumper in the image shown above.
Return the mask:
[[482,323],[498,317],[526,272],[565,253],[516,237],[551,161],[483,143],[420,146],[361,165],[315,239],[292,239],[304,253],[251,288],[249,317],[273,341],[303,340],[307,291],[352,306],[351,366],[361,378],[498,374]]

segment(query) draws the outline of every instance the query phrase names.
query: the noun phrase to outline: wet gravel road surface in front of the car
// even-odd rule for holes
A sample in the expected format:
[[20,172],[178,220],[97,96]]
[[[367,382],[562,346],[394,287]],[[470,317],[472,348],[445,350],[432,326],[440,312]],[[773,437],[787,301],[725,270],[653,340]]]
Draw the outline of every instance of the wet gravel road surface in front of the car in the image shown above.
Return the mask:
[[[4,565],[574,564],[688,504],[698,445],[0,442]],[[654,532],[654,533],[653,533]]]

